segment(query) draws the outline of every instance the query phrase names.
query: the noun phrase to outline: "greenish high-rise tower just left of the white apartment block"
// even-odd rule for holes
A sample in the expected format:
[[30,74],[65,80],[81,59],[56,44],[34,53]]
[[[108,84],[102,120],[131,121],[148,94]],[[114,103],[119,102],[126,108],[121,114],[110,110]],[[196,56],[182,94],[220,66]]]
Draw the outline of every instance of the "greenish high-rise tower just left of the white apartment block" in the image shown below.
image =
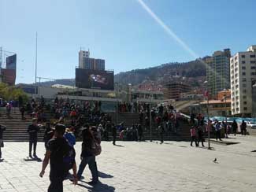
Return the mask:
[[215,51],[212,57],[206,57],[206,80],[211,98],[216,98],[217,92],[230,88],[230,50]]

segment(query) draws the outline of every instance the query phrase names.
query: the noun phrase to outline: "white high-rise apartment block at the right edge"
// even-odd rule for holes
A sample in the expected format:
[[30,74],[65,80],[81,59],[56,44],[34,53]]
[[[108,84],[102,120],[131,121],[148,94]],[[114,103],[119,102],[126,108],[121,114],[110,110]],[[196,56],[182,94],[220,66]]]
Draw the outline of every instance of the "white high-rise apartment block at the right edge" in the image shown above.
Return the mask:
[[256,82],[256,46],[230,59],[232,115],[252,113],[252,86]]

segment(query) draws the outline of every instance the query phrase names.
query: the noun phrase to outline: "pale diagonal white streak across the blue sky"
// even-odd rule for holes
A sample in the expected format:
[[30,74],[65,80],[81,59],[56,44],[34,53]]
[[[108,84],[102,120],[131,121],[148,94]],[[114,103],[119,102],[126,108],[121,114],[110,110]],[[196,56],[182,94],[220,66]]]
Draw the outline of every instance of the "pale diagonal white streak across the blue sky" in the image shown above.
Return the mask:
[[153,11],[152,9],[149,8],[149,6],[146,5],[145,2],[143,2],[143,0],[137,0],[139,2],[139,4],[143,7],[143,9],[145,9],[147,11],[147,13],[150,14],[150,17],[152,17],[160,26],[161,28],[163,28],[165,30],[165,32],[167,32],[169,35],[171,35],[173,37],[173,39],[176,40],[176,42],[178,42],[180,44],[180,46],[182,46],[185,50],[187,50],[187,52],[189,54],[191,54],[192,57],[198,58],[198,55],[195,54],[195,52],[193,50],[191,50],[189,48],[189,46],[187,46],[187,44],[181,40],[176,34],[175,32],[169,28]]

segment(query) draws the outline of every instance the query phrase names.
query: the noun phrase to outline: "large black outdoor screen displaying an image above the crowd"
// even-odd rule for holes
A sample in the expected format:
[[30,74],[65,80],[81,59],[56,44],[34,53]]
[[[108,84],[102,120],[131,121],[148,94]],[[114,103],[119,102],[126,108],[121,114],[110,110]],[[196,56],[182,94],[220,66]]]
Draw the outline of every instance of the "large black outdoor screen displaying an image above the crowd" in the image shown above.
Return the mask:
[[113,90],[113,71],[76,68],[76,87]]

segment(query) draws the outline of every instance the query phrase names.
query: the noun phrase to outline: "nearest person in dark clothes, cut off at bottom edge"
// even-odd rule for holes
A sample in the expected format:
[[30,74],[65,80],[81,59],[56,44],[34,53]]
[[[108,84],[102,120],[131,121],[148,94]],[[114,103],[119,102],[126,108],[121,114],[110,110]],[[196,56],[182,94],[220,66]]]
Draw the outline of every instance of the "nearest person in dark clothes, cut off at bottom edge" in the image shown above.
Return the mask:
[[[63,181],[68,175],[69,168],[73,170],[73,184],[77,183],[76,161],[70,158],[72,147],[63,137],[65,125],[55,126],[54,138],[51,138],[46,146],[46,155],[43,159],[42,171],[39,176],[43,177],[50,160],[50,186],[48,192],[63,192]],[[72,161],[70,161],[72,159]]]

